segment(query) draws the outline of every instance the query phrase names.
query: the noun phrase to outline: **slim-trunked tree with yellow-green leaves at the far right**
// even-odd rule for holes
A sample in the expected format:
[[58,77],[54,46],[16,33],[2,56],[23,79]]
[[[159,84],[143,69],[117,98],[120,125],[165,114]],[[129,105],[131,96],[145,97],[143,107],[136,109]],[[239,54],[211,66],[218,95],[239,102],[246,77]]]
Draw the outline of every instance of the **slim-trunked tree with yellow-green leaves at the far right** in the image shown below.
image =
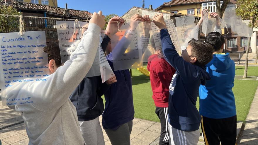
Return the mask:
[[[257,28],[258,23],[258,1],[257,0],[237,0],[236,14],[241,16],[242,19],[250,20],[249,27]],[[248,67],[248,53],[250,46],[251,37],[248,38],[248,45],[245,57],[245,71],[243,78],[247,77],[247,67]]]

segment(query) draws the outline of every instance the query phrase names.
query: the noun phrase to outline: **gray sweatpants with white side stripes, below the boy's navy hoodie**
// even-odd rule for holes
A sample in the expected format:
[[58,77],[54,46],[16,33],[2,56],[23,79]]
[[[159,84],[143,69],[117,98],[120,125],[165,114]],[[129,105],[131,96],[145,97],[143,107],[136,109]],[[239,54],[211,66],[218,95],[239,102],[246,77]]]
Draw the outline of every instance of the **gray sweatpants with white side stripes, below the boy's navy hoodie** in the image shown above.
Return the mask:
[[200,130],[186,132],[173,128],[169,124],[170,145],[197,145],[200,137]]

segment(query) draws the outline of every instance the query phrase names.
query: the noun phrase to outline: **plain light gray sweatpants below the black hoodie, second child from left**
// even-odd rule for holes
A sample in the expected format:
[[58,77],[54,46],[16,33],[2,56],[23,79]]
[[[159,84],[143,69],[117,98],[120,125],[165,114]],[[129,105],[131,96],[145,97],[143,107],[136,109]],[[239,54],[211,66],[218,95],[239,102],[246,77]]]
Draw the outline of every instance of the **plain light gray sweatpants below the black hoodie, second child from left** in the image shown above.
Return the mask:
[[89,121],[79,121],[82,137],[87,145],[105,145],[99,117]]

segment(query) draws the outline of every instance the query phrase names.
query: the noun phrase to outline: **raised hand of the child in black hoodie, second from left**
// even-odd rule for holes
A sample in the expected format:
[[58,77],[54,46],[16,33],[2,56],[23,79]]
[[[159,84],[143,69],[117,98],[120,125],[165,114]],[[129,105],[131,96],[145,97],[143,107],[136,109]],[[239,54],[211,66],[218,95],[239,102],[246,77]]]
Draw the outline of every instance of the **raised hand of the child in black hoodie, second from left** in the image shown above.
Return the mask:
[[119,16],[114,16],[108,21],[108,25],[106,28],[106,34],[108,37],[114,35],[117,30],[125,23],[125,20],[120,18]]

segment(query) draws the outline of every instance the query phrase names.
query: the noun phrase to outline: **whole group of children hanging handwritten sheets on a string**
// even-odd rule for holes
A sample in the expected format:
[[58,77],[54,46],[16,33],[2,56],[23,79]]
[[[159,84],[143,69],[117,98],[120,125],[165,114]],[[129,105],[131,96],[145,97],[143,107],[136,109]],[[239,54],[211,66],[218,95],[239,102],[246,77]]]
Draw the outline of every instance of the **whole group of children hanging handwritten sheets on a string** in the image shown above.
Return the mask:
[[[63,66],[59,46],[54,42],[47,43],[44,52],[48,54],[51,74],[47,76],[47,81],[21,83],[7,94],[7,98],[26,94],[50,100],[48,103],[15,105],[15,110],[21,112],[26,124],[30,145],[104,145],[99,122],[101,114],[102,126],[111,144],[130,145],[134,119],[132,80],[129,70],[114,71],[113,60],[118,57],[116,51],[126,50],[132,38],[125,35],[113,49],[110,43],[110,38],[116,33],[114,30],[120,26],[111,24],[124,23],[122,18],[111,18],[101,43],[115,76],[105,83],[100,76],[84,78],[96,56],[104,18],[101,11],[93,13],[88,30]],[[135,14],[130,21],[150,22],[150,18]],[[236,125],[232,93],[235,65],[228,54],[221,53],[224,37],[214,32],[207,35],[206,42],[192,39],[180,57],[166,29],[163,15],[156,14],[153,22],[161,29],[165,56],[159,59],[154,54],[148,63],[155,113],[161,122],[160,144],[196,145],[200,122],[207,145],[219,144],[220,141],[222,144],[233,144]],[[134,28],[134,23],[130,27]],[[198,93],[200,113],[196,108]],[[103,94],[105,109],[101,98]]]

